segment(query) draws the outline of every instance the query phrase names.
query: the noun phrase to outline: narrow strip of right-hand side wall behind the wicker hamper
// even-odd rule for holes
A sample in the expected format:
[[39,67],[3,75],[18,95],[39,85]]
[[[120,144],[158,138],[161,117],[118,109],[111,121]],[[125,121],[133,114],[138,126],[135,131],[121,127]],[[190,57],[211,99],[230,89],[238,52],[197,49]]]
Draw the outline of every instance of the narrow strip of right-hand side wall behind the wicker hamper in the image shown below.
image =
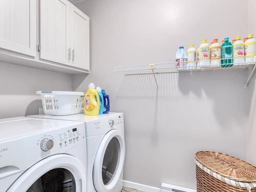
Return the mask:
[[[248,33],[256,34],[256,1],[248,0]],[[247,161],[256,164],[256,84],[255,75],[248,88],[248,134],[247,134]]]

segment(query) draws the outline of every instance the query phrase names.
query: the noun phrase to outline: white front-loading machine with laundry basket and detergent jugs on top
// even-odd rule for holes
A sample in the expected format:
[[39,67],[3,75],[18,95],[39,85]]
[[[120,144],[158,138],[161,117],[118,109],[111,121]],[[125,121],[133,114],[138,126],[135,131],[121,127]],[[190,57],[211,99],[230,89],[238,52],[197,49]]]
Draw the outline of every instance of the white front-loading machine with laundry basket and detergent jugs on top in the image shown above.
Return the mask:
[[83,121],[87,135],[87,191],[120,192],[125,156],[122,113],[99,116],[35,115],[31,117]]

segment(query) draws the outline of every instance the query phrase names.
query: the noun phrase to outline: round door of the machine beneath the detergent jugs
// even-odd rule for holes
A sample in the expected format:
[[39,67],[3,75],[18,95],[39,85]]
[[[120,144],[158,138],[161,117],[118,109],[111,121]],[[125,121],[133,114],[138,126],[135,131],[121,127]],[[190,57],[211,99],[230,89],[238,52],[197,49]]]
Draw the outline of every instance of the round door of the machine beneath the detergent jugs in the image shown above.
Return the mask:
[[93,182],[98,192],[121,191],[124,156],[123,135],[111,130],[103,137],[94,160]]

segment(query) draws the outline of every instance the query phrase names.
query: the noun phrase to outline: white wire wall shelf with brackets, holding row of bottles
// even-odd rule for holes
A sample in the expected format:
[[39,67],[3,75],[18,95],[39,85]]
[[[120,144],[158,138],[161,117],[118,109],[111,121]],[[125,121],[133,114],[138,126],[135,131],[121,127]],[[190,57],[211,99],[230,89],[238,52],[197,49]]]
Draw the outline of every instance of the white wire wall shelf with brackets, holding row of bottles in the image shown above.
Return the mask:
[[[222,63],[223,62],[223,63]],[[115,73],[124,75],[143,75],[153,74],[156,80],[156,74],[162,73],[181,73],[194,71],[209,71],[209,70],[230,70],[230,69],[247,69],[253,67],[251,74],[246,82],[247,88],[251,77],[255,71],[256,56],[254,57],[239,57],[228,59],[200,60],[200,61],[181,61],[179,66],[177,62],[154,63],[136,66],[121,66],[114,67]]]

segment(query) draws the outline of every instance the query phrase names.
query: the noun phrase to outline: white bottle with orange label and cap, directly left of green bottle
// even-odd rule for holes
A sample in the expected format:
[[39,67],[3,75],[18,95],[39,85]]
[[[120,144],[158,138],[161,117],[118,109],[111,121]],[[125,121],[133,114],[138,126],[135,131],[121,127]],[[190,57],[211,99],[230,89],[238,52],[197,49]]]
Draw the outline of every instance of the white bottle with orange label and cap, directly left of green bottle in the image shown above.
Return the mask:
[[221,67],[221,45],[214,39],[210,45],[210,66]]

